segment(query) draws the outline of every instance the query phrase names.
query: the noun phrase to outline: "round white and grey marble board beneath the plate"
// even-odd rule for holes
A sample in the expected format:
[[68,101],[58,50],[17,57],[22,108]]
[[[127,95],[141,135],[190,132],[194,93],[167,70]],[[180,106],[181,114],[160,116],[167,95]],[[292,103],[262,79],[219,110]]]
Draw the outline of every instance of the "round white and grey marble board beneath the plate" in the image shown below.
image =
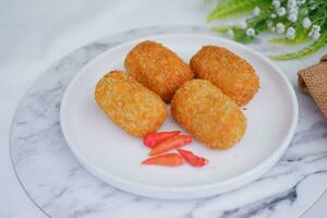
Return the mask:
[[[239,190],[190,201],[160,201],[132,195],[90,175],[71,154],[61,134],[59,107],[74,74],[108,48],[141,36],[205,33],[202,26],[167,26],[130,31],[89,44],[52,65],[25,95],[11,132],[16,174],[29,197],[47,215],[59,217],[299,217],[327,184],[327,121],[313,100],[295,88],[300,117],[296,134],[280,161],[262,178]],[[264,41],[263,53],[281,52]],[[292,84],[306,61],[277,62]],[[274,116],[274,114],[271,114]]]

